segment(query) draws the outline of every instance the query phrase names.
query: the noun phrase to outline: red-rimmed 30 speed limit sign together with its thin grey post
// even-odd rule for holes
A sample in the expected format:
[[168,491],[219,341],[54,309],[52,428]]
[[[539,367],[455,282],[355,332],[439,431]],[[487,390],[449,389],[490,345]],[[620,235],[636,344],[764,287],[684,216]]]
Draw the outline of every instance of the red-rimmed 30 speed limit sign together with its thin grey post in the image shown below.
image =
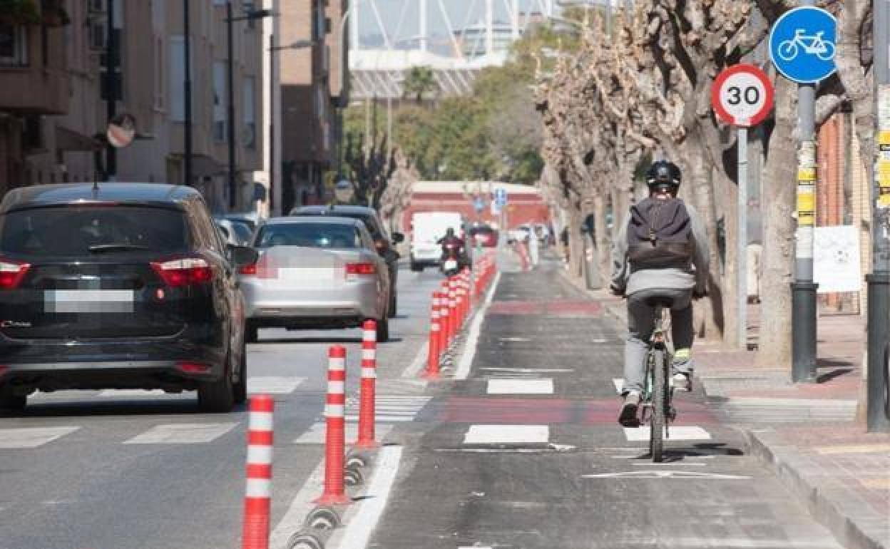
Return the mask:
[[717,118],[738,127],[739,230],[736,250],[737,343],[748,348],[748,127],[764,121],[773,109],[773,83],[754,65],[725,69],[714,80],[711,104]]

